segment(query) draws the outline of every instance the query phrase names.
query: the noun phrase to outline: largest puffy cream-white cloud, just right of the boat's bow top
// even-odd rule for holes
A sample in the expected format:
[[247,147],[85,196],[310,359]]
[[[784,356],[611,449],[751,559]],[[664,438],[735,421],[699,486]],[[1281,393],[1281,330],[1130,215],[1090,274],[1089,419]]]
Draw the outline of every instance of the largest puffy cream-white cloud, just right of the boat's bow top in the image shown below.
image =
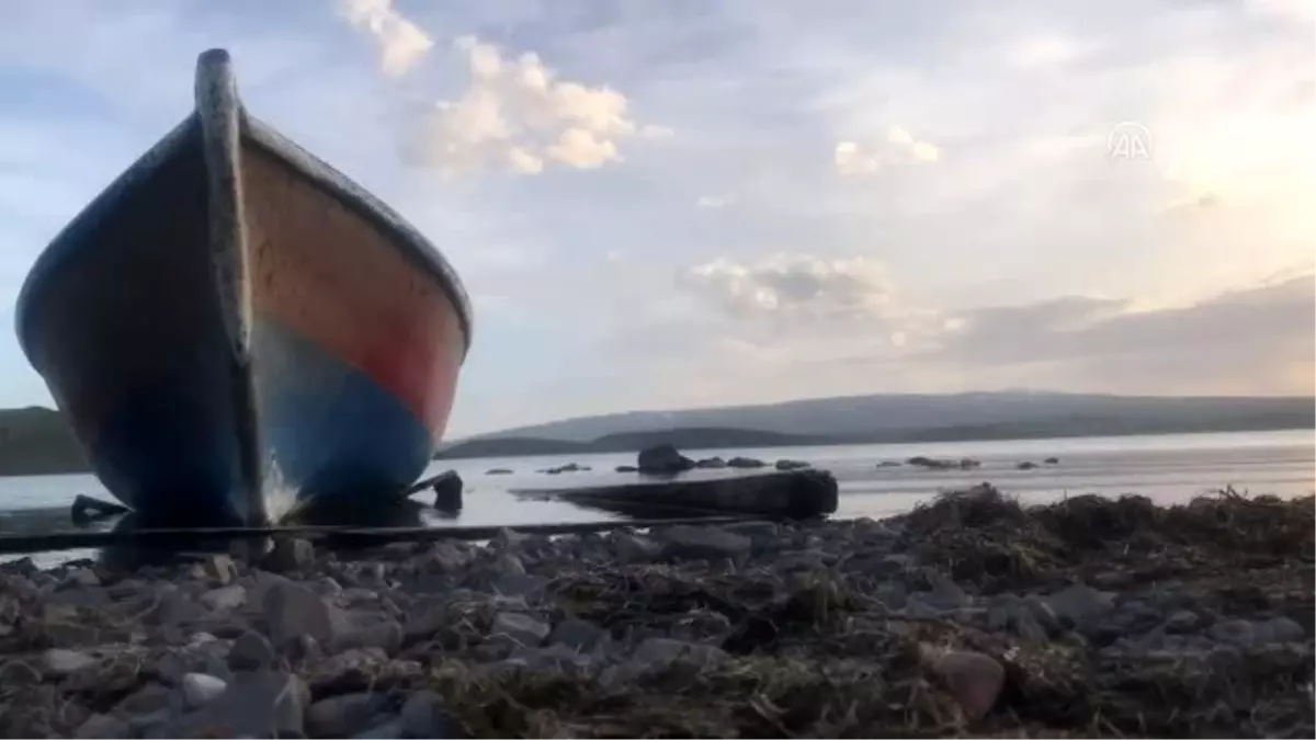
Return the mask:
[[621,92],[562,79],[534,53],[511,58],[474,36],[458,38],[454,50],[467,87],[421,116],[411,154],[426,166],[450,174],[594,170],[621,162],[625,140],[671,136],[665,126],[638,124]]

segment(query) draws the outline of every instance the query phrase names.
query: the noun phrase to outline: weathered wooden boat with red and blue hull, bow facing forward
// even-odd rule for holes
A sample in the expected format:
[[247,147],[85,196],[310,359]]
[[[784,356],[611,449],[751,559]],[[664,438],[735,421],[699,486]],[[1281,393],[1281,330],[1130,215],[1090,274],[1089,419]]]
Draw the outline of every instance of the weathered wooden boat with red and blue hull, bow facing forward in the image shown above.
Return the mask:
[[17,333],[105,487],[154,525],[266,525],[396,500],[471,340],[457,274],[249,116],[228,53],[196,108],[70,223]]

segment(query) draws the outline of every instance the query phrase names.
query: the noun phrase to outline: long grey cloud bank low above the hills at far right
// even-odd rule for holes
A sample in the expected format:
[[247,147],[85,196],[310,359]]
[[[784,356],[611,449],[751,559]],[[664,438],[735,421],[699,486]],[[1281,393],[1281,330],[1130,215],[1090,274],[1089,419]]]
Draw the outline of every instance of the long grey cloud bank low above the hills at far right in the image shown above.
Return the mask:
[[911,362],[984,378],[1032,367],[1065,387],[1117,392],[1311,394],[1316,378],[1298,371],[1316,366],[1316,336],[1299,319],[1311,316],[1316,274],[1157,309],[1066,298],[966,312],[940,348]]

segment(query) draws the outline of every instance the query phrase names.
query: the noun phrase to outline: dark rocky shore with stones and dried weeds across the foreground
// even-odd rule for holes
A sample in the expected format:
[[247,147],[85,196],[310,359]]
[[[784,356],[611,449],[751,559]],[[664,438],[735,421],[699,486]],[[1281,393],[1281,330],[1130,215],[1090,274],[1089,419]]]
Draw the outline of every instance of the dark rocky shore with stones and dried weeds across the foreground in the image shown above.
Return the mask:
[[0,566],[0,737],[1311,737],[1316,499]]

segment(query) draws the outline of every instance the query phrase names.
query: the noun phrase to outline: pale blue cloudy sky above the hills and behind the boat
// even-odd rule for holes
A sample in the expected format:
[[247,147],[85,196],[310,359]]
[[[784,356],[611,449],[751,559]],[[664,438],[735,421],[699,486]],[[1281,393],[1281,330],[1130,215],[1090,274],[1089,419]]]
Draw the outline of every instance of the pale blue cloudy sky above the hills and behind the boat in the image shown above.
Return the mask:
[[[462,275],[450,436],[866,392],[1316,392],[1309,0],[21,0],[0,295],[191,111],[212,46],[253,115]],[[0,406],[34,403],[0,333]]]

